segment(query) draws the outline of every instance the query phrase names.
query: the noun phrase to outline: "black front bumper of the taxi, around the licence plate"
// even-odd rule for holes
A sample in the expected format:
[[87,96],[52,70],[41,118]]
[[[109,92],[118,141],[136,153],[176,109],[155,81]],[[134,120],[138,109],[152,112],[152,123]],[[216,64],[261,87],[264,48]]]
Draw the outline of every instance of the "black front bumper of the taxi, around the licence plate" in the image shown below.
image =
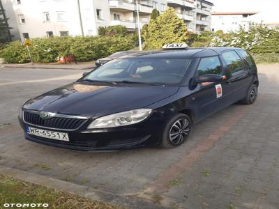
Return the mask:
[[[26,125],[36,127],[35,125],[25,124],[22,120],[20,120],[20,123],[24,130]],[[109,129],[87,130],[86,126],[88,123],[86,123],[79,130],[67,132],[69,141],[37,137],[32,134],[27,134],[25,131],[24,137],[29,141],[40,144],[72,150],[121,150],[159,144],[163,123],[163,118],[157,117],[156,114],[154,116],[153,114],[153,116],[142,123]],[[52,130],[47,127],[43,129]],[[61,132],[65,131],[61,130]]]

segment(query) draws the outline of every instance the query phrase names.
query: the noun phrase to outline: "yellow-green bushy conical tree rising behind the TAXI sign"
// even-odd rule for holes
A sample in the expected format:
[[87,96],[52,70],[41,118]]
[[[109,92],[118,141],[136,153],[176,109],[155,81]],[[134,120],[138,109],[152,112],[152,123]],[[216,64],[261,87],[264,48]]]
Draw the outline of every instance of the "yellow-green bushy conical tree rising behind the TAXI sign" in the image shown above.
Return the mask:
[[156,20],[150,20],[143,31],[144,49],[158,49],[172,42],[186,42],[186,24],[177,17],[173,8],[168,8]]

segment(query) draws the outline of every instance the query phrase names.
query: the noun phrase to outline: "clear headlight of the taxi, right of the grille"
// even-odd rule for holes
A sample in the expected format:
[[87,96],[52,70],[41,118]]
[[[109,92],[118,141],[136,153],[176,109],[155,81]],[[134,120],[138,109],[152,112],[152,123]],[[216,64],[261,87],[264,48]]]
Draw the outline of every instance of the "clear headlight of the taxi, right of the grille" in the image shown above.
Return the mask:
[[132,125],[144,121],[144,119],[150,116],[151,113],[152,109],[134,109],[130,111],[123,111],[117,114],[97,118],[87,128],[91,129]]

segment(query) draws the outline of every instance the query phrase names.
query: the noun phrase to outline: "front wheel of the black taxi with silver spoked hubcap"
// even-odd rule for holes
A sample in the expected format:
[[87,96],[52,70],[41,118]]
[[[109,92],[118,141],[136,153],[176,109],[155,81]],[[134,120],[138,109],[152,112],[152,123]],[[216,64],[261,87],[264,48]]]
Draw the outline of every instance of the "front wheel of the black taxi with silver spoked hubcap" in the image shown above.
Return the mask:
[[191,118],[186,114],[177,114],[165,125],[160,143],[162,148],[174,148],[183,144],[192,127]]

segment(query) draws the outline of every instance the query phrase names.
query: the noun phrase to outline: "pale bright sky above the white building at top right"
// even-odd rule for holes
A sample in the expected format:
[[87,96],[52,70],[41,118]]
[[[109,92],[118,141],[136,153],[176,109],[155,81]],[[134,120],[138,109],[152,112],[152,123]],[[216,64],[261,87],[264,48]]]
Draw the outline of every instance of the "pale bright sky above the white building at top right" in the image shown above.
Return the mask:
[[260,12],[258,19],[279,23],[279,0],[208,0],[214,3],[213,12]]

